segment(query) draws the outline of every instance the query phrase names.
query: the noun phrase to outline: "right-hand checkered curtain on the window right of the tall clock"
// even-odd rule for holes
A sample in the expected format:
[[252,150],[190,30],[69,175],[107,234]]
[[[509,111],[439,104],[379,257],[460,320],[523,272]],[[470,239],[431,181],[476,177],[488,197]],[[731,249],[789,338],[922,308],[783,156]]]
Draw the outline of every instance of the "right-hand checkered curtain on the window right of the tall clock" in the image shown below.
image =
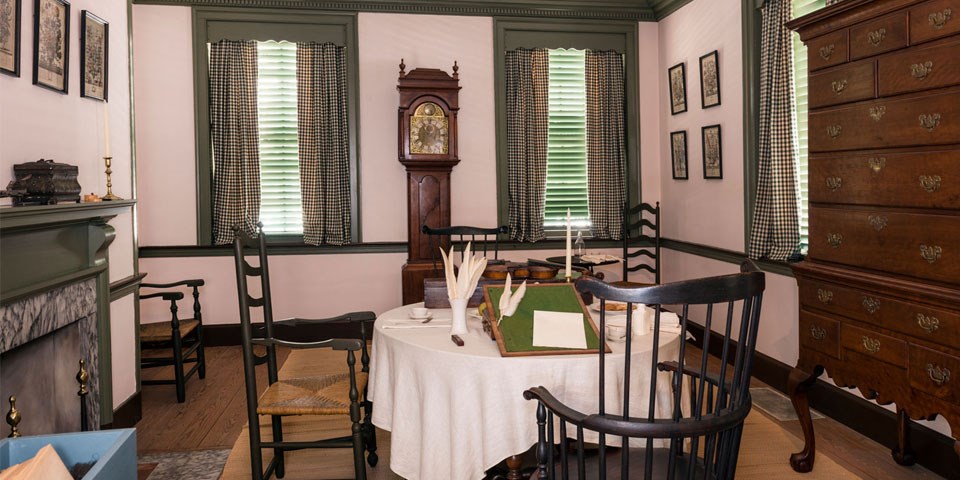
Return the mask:
[[623,231],[624,90],[623,56],[586,52],[587,201],[597,238],[619,240]]

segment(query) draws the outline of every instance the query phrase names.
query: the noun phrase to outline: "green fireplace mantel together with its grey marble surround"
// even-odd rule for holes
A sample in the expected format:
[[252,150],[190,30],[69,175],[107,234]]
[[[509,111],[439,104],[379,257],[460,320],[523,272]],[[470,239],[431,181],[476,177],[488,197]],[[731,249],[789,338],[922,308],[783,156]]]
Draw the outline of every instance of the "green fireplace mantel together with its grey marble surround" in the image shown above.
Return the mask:
[[92,429],[113,422],[108,249],[115,232],[107,222],[135,203],[0,207],[0,352],[76,323],[91,376]]

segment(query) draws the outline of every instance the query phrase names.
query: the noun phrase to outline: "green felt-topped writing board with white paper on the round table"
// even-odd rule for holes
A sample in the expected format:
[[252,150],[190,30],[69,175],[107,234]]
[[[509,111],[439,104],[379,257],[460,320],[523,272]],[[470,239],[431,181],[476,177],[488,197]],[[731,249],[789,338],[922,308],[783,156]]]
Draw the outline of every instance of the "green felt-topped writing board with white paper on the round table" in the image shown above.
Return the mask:
[[[503,295],[502,286],[489,285],[484,287],[494,313],[493,320],[500,317],[500,297]],[[512,288],[513,291],[517,287]],[[520,301],[517,311],[504,317],[500,322],[499,331],[503,340],[503,349],[507,352],[556,352],[582,351],[579,349],[558,347],[533,346],[533,312],[535,310],[551,312],[575,312],[584,314],[583,330],[587,339],[587,350],[596,351],[600,347],[600,339],[589,320],[589,316],[580,302],[577,291],[570,284],[559,285],[528,285],[527,292]]]

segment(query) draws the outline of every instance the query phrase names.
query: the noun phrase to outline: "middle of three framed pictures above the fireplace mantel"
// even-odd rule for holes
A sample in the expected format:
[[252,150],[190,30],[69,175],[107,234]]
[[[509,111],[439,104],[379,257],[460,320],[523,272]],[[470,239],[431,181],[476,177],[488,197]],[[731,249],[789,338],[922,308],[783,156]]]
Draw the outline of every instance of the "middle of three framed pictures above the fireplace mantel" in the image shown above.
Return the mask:
[[70,2],[34,0],[33,84],[67,93],[70,78]]

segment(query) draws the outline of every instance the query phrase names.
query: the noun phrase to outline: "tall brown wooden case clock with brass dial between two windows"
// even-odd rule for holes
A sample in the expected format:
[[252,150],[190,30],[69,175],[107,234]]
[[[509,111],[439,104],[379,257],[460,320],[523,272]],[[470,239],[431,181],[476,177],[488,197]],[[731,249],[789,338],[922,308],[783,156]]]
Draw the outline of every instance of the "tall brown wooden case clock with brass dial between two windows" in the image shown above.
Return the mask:
[[423,300],[423,280],[433,276],[430,242],[423,225],[450,225],[450,173],[457,157],[459,67],[453,75],[435,68],[406,73],[400,61],[398,110],[399,160],[407,169],[407,263],[403,266],[403,303]]

